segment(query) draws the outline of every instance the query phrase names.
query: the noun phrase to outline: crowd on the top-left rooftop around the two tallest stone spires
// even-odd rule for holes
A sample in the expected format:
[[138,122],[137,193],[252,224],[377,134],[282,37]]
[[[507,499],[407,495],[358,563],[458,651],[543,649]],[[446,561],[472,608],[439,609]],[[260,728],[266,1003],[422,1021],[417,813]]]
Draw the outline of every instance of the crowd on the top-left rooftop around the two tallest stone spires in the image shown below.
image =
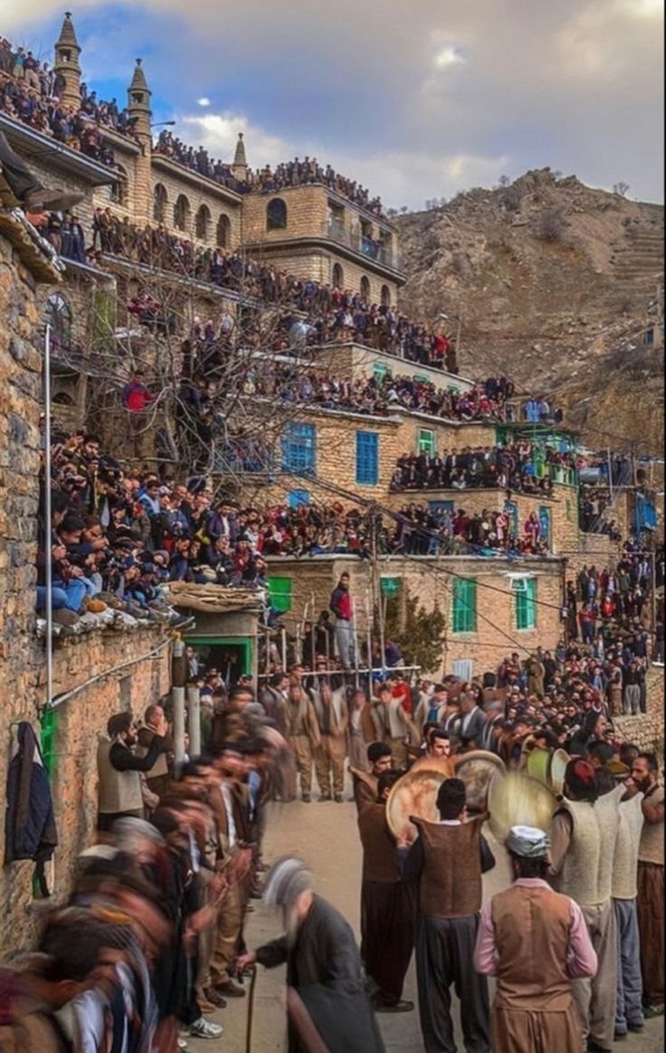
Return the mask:
[[81,84],[79,106],[63,105],[63,86],[62,77],[48,63],[0,38],[0,110],[36,132],[113,166],[114,152],[99,128],[109,127],[132,138],[133,118],[116,99],[98,99],[86,84]]

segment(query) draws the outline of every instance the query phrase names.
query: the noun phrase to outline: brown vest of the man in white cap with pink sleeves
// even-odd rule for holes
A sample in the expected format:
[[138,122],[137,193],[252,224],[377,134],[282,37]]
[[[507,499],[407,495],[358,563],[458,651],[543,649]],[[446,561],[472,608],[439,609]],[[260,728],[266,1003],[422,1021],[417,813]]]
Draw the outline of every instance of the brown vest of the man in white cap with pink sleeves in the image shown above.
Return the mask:
[[513,885],[492,897],[499,956],[496,1006],[562,1012],[571,1002],[566,961],[571,903],[551,889]]

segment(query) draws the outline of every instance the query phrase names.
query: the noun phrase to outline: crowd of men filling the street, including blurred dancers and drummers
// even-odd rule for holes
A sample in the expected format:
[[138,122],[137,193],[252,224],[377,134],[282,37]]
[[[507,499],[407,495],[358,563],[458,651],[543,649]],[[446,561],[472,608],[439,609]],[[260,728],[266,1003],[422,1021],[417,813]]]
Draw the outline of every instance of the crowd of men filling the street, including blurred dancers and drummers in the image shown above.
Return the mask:
[[[330,597],[341,622],[352,614],[347,591],[341,580]],[[537,1025],[554,1029],[553,1049],[578,1049],[581,1035],[588,1048],[610,1049],[663,1011],[659,761],[620,739],[591,651],[573,642],[553,654],[513,653],[471,682],[409,683],[398,668],[355,686],[327,650],[317,644],[311,668],[276,668],[256,693],[250,677],[228,687],[188,649],[199,722],[186,715],[180,744],[176,703],[150,703],[140,719],[110,716],[98,746],[97,843],[79,857],[66,903],[46,915],[38,954],[3,971],[0,1037],[39,1028],[41,1045],[31,1050],[60,1053],[68,1039],[176,1053],[189,1037],[220,1038],[223,1022],[210,1016],[221,1011],[224,1021],[228,1004],[247,997],[258,965],[287,961],[291,1042],[315,1027],[327,1048],[382,1053],[375,1014],[413,1010],[403,987],[415,950],[426,1048],[445,1048],[452,1035],[451,985],[466,1040],[473,1036],[482,1053],[532,1053]],[[483,912],[481,873],[496,860],[481,833],[478,787],[448,768],[437,796],[441,823],[418,819],[396,838],[386,816],[388,794],[413,763],[456,763],[479,749],[509,773],[530,770],[533,751],[570,758],[550,839],[534,828],[509,830],[518,880]],[[309,804],[316,783],[320,801],[342,803],[347,762],[363,850],[360,950],[341,915],[314,895],[303,863],[269,867],[263,855],[270,800]],[[289,938],[255,950],[244,931],[262,897],[283,908]],[[500,900],[508,934],[492,925]],[[573,926],[562,925],[563,912]],[[524,933],[534,919],[543,939],[559,933],[562,943],[548,943],[549,971],[539,967],[538,985],[528,979],[538,970],[533,933],[531,942]],[[485,977],[495,972],[491,1013]],[[579,989],[574,977],[588,982]],[[294,989],[304,1012],[294,1008]],[[531,1030],[523,1035],[525,999]]]

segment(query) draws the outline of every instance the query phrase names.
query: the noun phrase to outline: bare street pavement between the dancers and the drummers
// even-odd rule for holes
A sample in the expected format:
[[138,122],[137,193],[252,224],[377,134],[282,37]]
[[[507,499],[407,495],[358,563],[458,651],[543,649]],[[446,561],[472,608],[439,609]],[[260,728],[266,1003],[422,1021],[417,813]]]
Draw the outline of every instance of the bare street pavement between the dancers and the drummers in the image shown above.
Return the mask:
[[[484,875],[484,897],[493,895],[509,883],[506,853],[486,834],[496,855],[497,866]],[[297,855],[312,870],[317,891],[344,914],[359,932],[361,887],[361,848],[357,832],[356,807],[350,802],[304,804],[273,804],[266,823],[264,843],[266,861],[280,856]],[[280,913],[253,900],[255,910],[246,923],[246,941],[251,950],[267,939],[281,935]],[[246,987],[249,987],[246,980]],[[416,973],[412,963],[407,975],[404,997],[417,1002]],[[456,998],[453,998],[456,1004]],[[251,1046],[247,1047],[248,998],[229,999],[221,1013],[207,1017],[222,1024],[224,1034],[219,1040],[188,1039],[194,1053],[285,1053],[286,1026],[284,1006],[284,970],[258,969],[254,998]],[[413,1013],[381,1014],[380,1027],[386,1053],[423,1053],[418,1009]],[[464,1050],[460,1022],[456,1020],[459,1050]],[[646,1024],[640,1035],[630,1035],[617,1042],[617,1053],[661,1053],[664,1050],[664,1019]],[[338,1051],[336,1051],[338,1053]],[[557,1051],[553,1050],[553,1053]]]

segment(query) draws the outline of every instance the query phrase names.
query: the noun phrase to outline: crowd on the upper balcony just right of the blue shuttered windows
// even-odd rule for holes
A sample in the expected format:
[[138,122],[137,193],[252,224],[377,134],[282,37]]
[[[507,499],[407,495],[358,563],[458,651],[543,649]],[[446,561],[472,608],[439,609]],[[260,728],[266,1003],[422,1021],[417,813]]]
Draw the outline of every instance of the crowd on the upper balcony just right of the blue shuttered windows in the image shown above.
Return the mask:
[[398,458],[391,490],[471,490],[493,488],[544,494],[553,482],[576,477],[573,454],[528,440],[497,446],[466,446],[441,454],[413,453]]

